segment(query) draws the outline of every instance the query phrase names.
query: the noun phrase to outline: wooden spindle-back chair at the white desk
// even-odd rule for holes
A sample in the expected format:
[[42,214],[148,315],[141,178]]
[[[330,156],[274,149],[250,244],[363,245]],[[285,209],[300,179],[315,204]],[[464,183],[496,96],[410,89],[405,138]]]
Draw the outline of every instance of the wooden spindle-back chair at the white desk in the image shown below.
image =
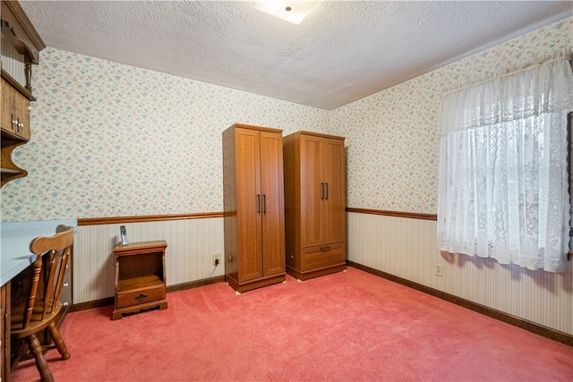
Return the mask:
[[[63,360],[70,358],[62,335],[56,327],[56,318],[61,308],[59,301],[65,266],[70,257],[73,244],[73,227],[58,225],[56,234],[51,237],[37,237],[30,242],[30,251],[38,255],[32,268],[32,280],[27,301],[12,308],[11,335],[13,338],[25,338],[30,352],[36,359],[42,381],[53,381],[54,376],[47,366],[44,352],[56,347]],[[44,277],[40,277],[43,265]],[[42,280],[43,282],[40,282]],[[38,333],[49,329],[55,346],[42,346]]]

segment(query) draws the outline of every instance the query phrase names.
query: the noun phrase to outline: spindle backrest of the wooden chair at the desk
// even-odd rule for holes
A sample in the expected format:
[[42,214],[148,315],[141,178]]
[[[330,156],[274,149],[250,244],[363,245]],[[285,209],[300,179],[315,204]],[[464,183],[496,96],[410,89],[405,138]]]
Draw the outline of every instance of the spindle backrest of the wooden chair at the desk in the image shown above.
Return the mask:
[[[54,236],[37,237],[30,242],[30,251],[37,254],[38,258],[32,266],[32,283],[30,285],[30,294],[26,301],[26,309],[23,312],[22,328],[28,327],[32,313],[38,314],[38,311],[34,312],[34,305],[38,305],[37,302],[39,301],[43,301],[43,310],[41,312],[41,318],[39,319],[44,320],[47,315],[54,313],[58,299],[60,298],[62,283],[64,282],[65,267],[70,257],[72,244],[73,226],[66,225],[58,225]],[[43,298],[38,299],[40,274],[44,264],[46,265],[46,270],[44,273],[44,283],[42,284]]]

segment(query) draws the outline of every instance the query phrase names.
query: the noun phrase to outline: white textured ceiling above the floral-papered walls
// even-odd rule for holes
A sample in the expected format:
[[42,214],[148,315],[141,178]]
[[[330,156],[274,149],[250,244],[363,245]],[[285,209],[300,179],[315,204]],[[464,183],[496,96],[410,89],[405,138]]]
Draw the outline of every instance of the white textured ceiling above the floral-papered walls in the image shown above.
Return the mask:
[[47,47],[335,109],[573,15],[557,1],[27,1]]

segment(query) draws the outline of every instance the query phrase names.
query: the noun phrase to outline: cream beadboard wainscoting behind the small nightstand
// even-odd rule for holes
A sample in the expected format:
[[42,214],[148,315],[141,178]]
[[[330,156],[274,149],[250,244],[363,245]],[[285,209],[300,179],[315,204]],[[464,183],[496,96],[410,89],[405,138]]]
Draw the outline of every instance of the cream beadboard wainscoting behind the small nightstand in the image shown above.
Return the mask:
[[222,213],[218,215],[136,222],[116,218],[109,219],[109,224],[103,223],[106,219],[78,219],[73,248],[73,303],[114,296],[113,248],[119,242],[121,225],[125,225],[129,242],[167,242],[167,287],[225,275],[224,262],[217,268],[212,265],[212,254],[224,253],[223,217]]

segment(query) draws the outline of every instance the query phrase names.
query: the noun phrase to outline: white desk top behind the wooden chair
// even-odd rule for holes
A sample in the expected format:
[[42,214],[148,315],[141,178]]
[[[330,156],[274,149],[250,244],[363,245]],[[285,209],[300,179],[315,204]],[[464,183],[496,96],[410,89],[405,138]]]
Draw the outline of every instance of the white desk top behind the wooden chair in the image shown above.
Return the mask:
[[57,225],[76,227],[76,219],[0,224],[0,285],[4,285],[34,261],[30,242],[38,236],[53,236]]

